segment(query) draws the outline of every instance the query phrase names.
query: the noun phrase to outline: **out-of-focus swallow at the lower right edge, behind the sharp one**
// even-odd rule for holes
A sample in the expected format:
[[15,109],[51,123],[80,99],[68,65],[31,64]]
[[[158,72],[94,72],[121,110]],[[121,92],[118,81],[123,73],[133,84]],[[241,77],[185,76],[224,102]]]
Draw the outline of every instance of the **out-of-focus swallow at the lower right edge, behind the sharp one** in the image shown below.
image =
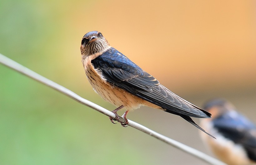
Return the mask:
[[201,119],[200,126],[217,140],[202,133],[201,137],[212,152],[227,164],[256,163],[255,124],[224,99],[212,100],[205,104],[204,109],[212,113],[212,118]]

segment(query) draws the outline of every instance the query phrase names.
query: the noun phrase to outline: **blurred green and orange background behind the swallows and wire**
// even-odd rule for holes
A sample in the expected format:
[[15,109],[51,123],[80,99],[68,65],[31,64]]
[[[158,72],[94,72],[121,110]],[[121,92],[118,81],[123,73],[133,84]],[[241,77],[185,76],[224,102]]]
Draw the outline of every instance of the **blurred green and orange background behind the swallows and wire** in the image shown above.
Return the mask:
[[[109,110],[81,64],[92,30],[182,98],[225,98],[256,122],[255,1],[1,0],[0,22],[0,53]],[[212,155],[181,117],[128,118]],[[0,132],[0,164],[206,164],[2,65]]]

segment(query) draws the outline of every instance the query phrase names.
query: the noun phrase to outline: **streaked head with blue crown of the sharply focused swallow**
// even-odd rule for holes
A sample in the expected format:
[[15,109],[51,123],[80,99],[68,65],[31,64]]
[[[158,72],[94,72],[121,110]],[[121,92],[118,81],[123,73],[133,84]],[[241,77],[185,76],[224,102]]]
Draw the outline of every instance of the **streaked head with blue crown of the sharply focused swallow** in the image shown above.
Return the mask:
[[108,41],[99,31],[90,31],[86,33],[81,42],[82,56],[90,56],[95,53],[101,53],[110,48]]

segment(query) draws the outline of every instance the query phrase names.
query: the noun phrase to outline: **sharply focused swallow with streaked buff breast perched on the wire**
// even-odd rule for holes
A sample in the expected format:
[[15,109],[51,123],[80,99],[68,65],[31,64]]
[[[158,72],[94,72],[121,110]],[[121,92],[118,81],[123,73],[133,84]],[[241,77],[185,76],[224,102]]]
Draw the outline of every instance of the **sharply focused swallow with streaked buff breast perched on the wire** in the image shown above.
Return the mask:
[[[148,106],[179,115],[204,131],[190,117],[209,118],[209,112],[161,85],[153,76],[111,47],[100,32],[91,31],[84,35],[81,55],[86,76],[93,89],[103,99],[118,107],[112,111],[116,114],[115,120],[120,122],[117,115],[119,109],[126,110],[122,116],[125,123],[120,122],[122,126],[128,124],[126,115],[129,111]],[[113,119],[110,119],[114,123]]]

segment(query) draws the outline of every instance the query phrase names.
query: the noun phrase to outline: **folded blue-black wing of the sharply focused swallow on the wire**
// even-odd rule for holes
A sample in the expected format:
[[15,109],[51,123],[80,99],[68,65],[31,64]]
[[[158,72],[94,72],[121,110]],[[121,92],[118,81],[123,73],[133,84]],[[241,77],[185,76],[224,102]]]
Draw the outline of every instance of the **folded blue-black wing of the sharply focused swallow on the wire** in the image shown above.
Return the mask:
[[107,82],[160,106],[166,112],[183,117],[210,117],[210,113],[187,102],[169,89],[160,85],[153,76],[143,71],[126,56],[110,48],[101,56],[91,61],[95,68],[102,71]]

